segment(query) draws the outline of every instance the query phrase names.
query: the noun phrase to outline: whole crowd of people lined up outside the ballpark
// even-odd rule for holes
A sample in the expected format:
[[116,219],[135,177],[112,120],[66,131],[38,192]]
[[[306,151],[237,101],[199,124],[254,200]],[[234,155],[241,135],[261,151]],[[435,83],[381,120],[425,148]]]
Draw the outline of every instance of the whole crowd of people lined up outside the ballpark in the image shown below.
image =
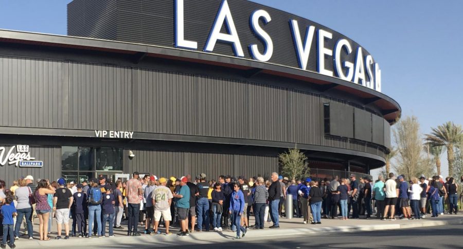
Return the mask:
[[[239,239],[248,229],[264,229],[269,218],[273,223],[269,228],[279,228],[287,198],[293,201],[294,216],[305,224],[321,224],[322,218],[370,219],[374,213],[381,220],[438,217],[446,202],[449,214],[458,211],[458,185],[452,177],[444,182],[440,175],[429,179],[421,175],[408,182],[394,173],[386,181],[379,176],[375,182],[368,177],[357,179],[355,174],[332,181],[310,177],[290,181],[275,172],[269,180],[220,175],[218,181],[207,181],[204,173],[195,180],[190,175],[139,176],[134,172],[132,179],[114,183],[103,175],[78,184],[63,178],[51,183],[41,179],[35,185],[33,176],[27,175],[10,188],[0,180],[1,247],[8,243],[14,248],[20,236],[33,239],[34,214],[39,218],[40,240],[50,240],[52,218],[57,224],[55,239],[114,237],[114,229],[123,229],[123,220],[128,223],[128,236],[161,235],[159,225],[163,224],[165,236],[172,235],[170,226],[178,226],[179,237],[230,229]],[[251,212],[253,225],[249,224]],[[20,235],[22,225],[24,235]],[[143,233],[138,232],[139,225],[145,227]]]

